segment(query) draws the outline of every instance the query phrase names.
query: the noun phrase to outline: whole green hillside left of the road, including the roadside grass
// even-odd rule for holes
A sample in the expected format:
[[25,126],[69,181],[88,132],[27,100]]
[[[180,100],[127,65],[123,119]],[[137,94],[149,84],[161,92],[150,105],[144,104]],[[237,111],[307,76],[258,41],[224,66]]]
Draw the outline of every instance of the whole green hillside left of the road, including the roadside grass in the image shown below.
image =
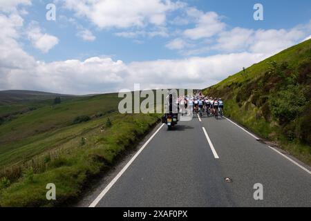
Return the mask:
[[[158,122],[158,115],[118,113],[117,94],[61,97],[60,104],[52,97],[0,104],[0,206],[54,206],[77,198],[91,177]],[[51,182],[56,202],[46,200]]]

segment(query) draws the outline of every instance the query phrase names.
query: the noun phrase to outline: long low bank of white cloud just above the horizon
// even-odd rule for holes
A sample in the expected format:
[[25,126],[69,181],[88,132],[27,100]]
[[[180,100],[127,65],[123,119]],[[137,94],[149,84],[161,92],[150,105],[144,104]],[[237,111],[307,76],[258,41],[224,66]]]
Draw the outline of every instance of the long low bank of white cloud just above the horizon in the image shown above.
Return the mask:
[[11,69],[2,82],[6,87],[1,89],[86,94],[133,89],[134,83],[140,83],[142,88],[203,88],[263,58],[264,55],[240,53],[130,64],[100,57],[37,62],[28,68]]

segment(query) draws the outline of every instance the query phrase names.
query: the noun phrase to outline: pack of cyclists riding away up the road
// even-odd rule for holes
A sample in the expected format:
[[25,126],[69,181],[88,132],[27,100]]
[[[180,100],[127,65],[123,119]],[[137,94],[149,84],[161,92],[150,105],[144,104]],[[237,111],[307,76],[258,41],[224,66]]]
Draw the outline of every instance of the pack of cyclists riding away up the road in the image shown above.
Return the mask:
[[[204,96],[202,93],[198,93],[191,97],[178,97],[177,104],[180,107],[189,108],[193,110],[194,113],[202,117],[203,113],[207,116],[214,115],[217,117],[223,117],[224,102],[221,98],[213,98],[210,96]],[[183,114],[183,108],[180,108],[180,112]]]

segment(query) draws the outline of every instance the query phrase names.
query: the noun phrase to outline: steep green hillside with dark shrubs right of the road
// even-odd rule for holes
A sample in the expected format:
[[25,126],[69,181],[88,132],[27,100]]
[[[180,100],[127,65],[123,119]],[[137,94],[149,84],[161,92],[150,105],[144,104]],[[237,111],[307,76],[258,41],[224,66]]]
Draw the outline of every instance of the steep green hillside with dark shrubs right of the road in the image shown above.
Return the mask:
[[254,64],[203,93],[222,97],[227,117],[311,164],[311,40]]

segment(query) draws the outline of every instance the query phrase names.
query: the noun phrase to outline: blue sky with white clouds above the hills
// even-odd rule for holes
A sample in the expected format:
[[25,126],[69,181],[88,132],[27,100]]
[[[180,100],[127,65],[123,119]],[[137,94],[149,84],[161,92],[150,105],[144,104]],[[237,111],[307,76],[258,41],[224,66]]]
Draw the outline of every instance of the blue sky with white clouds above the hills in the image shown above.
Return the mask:
[[310,0],[0,0],[0,90],[206,88],[309,39],[310,15]]

